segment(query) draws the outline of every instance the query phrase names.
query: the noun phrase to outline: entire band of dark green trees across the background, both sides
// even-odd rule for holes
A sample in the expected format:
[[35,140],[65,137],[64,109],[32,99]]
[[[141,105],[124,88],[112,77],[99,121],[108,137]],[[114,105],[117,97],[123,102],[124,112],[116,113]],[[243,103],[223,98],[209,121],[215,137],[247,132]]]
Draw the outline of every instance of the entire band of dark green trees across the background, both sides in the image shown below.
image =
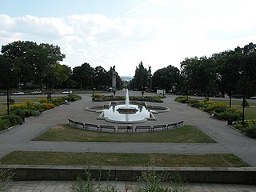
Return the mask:
[[[0,54],[0,89],[17,88],[76,88],[106,90],[111,83],[112,67],[105,70],[83,63],[71,69],[60,62],[65,58],[59,46],[47,43],[17,41],[2,46]],[[166,66],[151,74],[140,62],[133,79],[123,84],[117,73],[117,89],[165,89],[170,92],[217,95],[256,94],[256,45],[249,43],[234,50],[225,50],[210,57],[185,58],[179,70]]]

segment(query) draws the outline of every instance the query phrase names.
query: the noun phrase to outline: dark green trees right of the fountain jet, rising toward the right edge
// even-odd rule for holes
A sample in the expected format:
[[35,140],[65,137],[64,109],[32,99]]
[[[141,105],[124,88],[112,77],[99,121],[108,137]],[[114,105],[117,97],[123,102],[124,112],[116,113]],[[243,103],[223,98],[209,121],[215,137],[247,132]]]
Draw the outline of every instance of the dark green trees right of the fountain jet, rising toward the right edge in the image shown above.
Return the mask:
[[[246,94],[248,98],[256,94],[256,45],[252,42],[210,57],[185,58],[180,64],[181,70],[171,65],[156,70],[151,77],[152,89],[205,96]],[[148,86],[147,70],[141,62],[130,87],[144,90]]]

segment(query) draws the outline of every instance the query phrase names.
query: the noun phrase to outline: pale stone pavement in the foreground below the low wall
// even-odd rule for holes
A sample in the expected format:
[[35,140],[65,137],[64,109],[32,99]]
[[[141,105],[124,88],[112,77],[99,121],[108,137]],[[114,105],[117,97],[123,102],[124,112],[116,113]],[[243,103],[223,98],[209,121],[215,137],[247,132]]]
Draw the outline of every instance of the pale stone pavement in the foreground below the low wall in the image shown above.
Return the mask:
[[[10,192],[70,192],[74,181],[23,181],[11,182]],[[116,186],[119,192],[135,191],[136,182],[96,182],[95,185]],[[209,183],[188,183],[186,187],[190,192],[254,192],[256,186],[231,185],[231,184],[209,184]]]

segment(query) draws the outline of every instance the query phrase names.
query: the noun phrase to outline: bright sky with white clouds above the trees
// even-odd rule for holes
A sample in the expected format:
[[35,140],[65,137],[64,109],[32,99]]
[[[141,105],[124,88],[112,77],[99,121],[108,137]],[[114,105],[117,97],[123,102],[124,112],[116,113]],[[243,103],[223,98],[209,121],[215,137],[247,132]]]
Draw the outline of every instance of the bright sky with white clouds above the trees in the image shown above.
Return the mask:
[[255,0],[0,0],[0,45],[32,41],[60,46],[62,64],[115,66],[134,76],[140,62],[180,69],[255,43]]

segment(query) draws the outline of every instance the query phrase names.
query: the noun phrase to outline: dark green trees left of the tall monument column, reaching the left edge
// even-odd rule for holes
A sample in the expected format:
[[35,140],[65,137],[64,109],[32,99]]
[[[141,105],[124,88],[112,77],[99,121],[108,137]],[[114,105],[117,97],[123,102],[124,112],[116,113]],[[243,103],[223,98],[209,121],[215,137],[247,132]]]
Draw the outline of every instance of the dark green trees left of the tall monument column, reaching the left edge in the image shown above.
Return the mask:
[[[112,67],[92,67],[83,63],[71,69],[60,62],[66,57],[59,46],[29,41],[11,42],[2,46],[0,54],[0,89],[76,88],[106,90],[111,86]],[[117,88],[122,80],[117,74]]]

